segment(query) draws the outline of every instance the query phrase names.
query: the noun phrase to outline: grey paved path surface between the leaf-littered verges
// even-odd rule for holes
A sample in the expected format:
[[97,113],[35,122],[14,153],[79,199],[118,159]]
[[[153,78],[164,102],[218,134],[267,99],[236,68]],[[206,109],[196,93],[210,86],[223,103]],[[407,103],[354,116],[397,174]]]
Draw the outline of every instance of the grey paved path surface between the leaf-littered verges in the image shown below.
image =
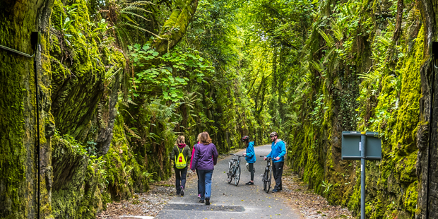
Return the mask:
[[[196,180],[189,180],[184,197],[175,196],[155,218],[300,218],[286,204],[288,200],[263,190],[260,174],[266,162],[260,155],[268,155],[271,146],[259,146],[256,152],[256,173],[254,185],[247,186],[250,175],[245,167],[246,161],[240,159],[242,176],[239,186],[227,183],[228,160],[232,156],[219,160],[213,172],[211,206],[199,203]],[[237,154],[244,153],[244,150]],[[235,157],[237,158],[237,157]],[[196,177],[196,176],[195,176]],[[275,184],[274,180],[271,189]],[[234,181],[233,181],[234,182]],[[232,182],[232,183],[233,183]],[[285,187],[283,186],[283,189]]]

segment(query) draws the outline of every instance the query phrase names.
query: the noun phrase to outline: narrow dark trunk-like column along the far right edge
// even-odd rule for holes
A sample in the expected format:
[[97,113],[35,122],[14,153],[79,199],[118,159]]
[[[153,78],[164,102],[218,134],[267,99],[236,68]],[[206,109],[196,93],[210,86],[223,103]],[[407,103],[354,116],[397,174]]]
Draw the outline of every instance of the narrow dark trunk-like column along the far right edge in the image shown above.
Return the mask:
[[[432,0],[419,0],[422,23],[425,25],[425,52],[430,54],[432,41],[438,40],[437,22],[438,3]],[[422,97],[420,98],[420,120],[418,127],[418,161],[417,176],[418,214],[415,218],[438,218],[438,77],[434,68],[433,57],[423,64],[420,70]],[[433,85],[433,86],[432,86]],[[432,88],[434,87],[434,88]]]

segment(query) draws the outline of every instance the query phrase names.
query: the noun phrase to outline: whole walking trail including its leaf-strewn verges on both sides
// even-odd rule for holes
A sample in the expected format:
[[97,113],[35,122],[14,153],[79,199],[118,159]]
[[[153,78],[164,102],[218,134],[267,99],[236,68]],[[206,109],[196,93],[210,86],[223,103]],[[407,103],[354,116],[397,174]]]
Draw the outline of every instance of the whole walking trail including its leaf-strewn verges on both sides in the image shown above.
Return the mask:
[[[107,211],[97,215],[97,219],[136,218],[353,218],[350,211],[341,206],[331,206],[324,197],[307,189],[307,184],[285,165],[283,171],[283,192],[269,194],[263,190],[260,174],[264,172],[266,161],[260,155],[268,155],[271,146],[258,146],[256,153],[256,173],[254,185],[247,186],[250,176],[241,158],[239,186],[227,183],[228,160],[226,156],[218,160],[212,180],[211,206],[199,203],[197,199],[196,173],[189,170],[186,194],[175,196],[174,176],[166,181],[150,185],[147,193],[135,194],[133,199],[107,204]],[[241,155],[244,150],[239,150]],[[236,157],[234,157],[236,158]],[[272,180],[271,189],[275,185]]]

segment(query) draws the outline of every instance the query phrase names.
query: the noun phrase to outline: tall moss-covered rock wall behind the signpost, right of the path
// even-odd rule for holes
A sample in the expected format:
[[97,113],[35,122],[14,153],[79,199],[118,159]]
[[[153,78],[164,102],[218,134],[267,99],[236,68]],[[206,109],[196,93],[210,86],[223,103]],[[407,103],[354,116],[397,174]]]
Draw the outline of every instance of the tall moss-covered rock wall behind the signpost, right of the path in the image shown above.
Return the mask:
[[[360,37],[348,37],[347,33],[335,37],[339,27],[336,19],[348,20],[343,17],[343,9],[333,9],[331,21],[324,20],[323,15],[316,21],[319,27],[314,25],[309,49],[312,59],[324,60],[327,69],[324,83],[314,78],[316,100],[309,97],[310,101],[301,102],[303,119],[292,130],[288,162],[310,188],[330,203],[348,206],[358,215],[360,162],[341,160],[341,132],[378,131],[382,160],[367,162],[366,217],[425,218],[429,200],[429,217],[433,218],[435,173],[427,165],[437,160],[435,144],[429,146],[434,134],[428,135],[434,118],[430,116],[430,43],[435,35],[431,29],[435,18],[428,15],[434,11],[434,4],[405,2],[399,18],[390,13],[396,4],[358,5],[350,18],[360,19],[355,28]],[[340,7],[353,10],[354,5],[348,2]],[[403,30],[396,28],[399,19]],[[329,35],[334,32],[333,38],[321,34],[322,29]],[[322,45],[317,39],[323,39]],[[324,47],[330,40],[345,53],[315,52],[321,47],[329,51]],[[429,150],[431,162],[427,162]],[[432,186],[429,195],[425,188],[428,179]]]

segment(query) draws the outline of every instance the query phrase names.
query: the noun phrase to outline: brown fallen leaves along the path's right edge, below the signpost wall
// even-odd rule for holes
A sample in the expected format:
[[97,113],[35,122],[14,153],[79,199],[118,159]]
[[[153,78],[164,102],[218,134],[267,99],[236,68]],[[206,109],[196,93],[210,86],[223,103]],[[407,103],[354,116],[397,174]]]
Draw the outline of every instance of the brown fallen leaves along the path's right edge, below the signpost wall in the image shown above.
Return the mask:
[[[315,194],[307,189],[307,185],[300,180],[297,174],[292,174],[290,168],[284,168],[283,172],[283,192],[276,195],[284,196],[286,203],[292,208],[298,209],[303,218],[353,218],[347,208],[341,206],[331,206],[323,196]],[[272,187],[275,185],[273,182]]]

